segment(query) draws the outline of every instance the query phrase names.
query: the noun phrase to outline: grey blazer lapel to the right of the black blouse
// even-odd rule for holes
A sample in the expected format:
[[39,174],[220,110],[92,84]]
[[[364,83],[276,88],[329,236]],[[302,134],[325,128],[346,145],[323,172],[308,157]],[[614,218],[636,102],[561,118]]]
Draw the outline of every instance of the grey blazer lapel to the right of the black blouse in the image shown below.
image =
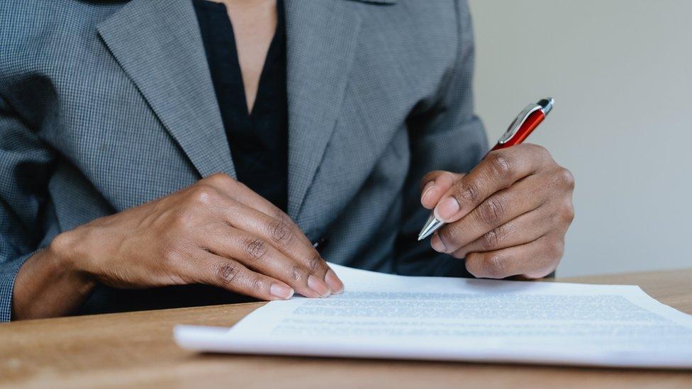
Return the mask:
[[346,1],[286,1],[289,215],[301,209],[333,133],[361,25]]

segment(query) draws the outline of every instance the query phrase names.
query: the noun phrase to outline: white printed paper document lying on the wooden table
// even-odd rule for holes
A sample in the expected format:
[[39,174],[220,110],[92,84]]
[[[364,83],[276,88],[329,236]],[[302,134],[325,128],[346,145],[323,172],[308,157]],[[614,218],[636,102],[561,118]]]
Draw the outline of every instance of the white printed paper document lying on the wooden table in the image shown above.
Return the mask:
[[274,301],[230,329],[181,325],[174,338],[235,354],[692,368],[692,316],[637,286],[331,266],[341,295]]

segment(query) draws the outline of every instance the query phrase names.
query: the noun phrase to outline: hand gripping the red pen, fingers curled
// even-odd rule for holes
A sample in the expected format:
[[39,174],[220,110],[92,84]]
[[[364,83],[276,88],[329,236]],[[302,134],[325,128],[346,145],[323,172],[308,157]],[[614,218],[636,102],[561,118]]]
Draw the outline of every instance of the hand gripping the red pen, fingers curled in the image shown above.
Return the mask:
[[545,148],[490,152],[468,174],[431,171],[422,188],[420,202],[447,223],[432,248],[466,258],[474,276],[540,278],[562,258],[574,177]]

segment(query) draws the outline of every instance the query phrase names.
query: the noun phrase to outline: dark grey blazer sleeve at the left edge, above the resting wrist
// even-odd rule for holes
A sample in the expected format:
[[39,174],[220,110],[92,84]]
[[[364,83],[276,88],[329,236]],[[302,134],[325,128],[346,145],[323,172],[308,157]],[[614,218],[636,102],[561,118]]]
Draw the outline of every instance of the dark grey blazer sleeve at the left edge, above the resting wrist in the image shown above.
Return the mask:
[[40,247],[50,206],[45,186],[52,152],[0,96],[0,322],[11,319],[17,272]]

